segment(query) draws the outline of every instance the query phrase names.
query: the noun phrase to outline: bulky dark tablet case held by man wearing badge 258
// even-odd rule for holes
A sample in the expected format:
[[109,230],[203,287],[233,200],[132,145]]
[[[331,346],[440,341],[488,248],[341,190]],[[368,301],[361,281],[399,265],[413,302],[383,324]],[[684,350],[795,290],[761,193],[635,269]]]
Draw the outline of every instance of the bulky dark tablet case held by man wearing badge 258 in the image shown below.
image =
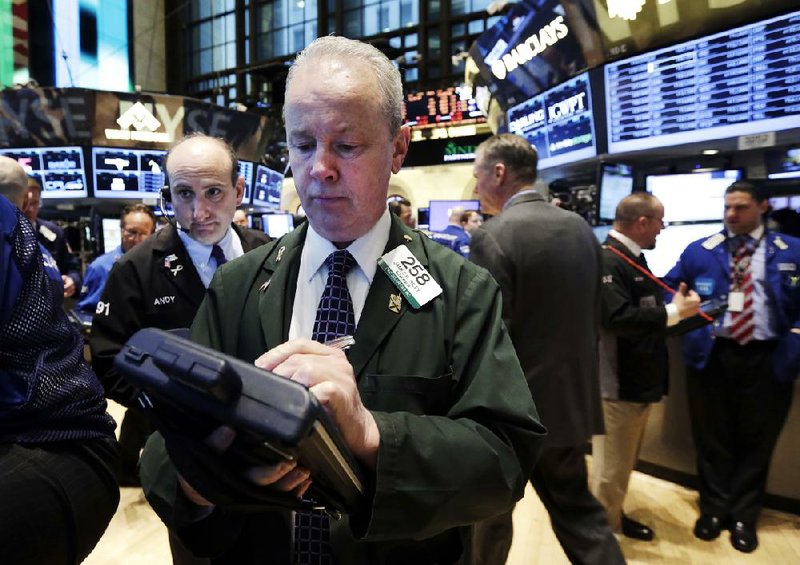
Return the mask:
[[[364,474],[338,428],[305,386],[155,328],[136,332],[115,368],[141,389],[140,404],[164,435],[178,471],[206,498],[239,510],[324,507],[348,513]],[[220,425],[236,432],[223,454],[204,442]],[[252,484],[247,467],[287,457],[311,471],[304,500]]]

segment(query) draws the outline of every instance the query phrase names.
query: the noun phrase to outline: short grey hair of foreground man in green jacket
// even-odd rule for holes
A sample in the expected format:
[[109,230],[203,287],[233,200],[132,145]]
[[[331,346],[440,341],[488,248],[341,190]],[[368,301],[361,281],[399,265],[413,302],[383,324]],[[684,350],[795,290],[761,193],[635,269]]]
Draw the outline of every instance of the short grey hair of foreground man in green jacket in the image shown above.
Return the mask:
[[[289,90],[298,68],[313,65],[323,59],[347,63],[358,61],[368,66],[375,74],[381,112],[386,117],[389,133],[394,135],[398,132],[403,125],[403,82],[400,71],[386,55],[368,43],[332,35],[315,39],[297,55],[294,64],[289,68],[286,90]],[[284,106],[284,112],[285,108]]]

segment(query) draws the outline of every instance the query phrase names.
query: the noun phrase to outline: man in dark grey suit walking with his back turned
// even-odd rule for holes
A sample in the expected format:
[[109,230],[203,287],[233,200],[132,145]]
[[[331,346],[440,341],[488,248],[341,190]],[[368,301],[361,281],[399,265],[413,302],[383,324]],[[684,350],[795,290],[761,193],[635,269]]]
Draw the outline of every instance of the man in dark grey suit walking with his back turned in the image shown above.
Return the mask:
[[[484,141],[475,158],[481,210],[470,259],[503,293],[503,320],[549,433],[530,480],[573,563],[623,563],[605,510],[589,492],[584,447],[603,430],[597,375],[600,247],[577,214],[536,190],[536,150],[522,137]],[[497,385],[502,388],[502,383]],[[511,513],[484,522],[482,564],[504,563]]]

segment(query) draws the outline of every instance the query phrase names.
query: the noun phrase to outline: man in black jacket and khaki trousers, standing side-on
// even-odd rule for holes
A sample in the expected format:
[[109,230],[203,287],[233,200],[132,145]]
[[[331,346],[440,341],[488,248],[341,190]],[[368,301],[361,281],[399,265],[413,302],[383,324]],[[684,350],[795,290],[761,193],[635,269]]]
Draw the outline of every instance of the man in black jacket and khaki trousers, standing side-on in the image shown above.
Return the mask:
[[628,517],[623,503],[650,407],[667,393],[665,331],[700,305],[697,293],[682,284],[665,306],[662,287],[647,268],[642,250],[655,248],[663,220],[664,206],[655,196],[626,196],[603,245],[600,386],[606,431],[592,438],[590,484],[612,529],[639,540],[653,539],[653,530]]

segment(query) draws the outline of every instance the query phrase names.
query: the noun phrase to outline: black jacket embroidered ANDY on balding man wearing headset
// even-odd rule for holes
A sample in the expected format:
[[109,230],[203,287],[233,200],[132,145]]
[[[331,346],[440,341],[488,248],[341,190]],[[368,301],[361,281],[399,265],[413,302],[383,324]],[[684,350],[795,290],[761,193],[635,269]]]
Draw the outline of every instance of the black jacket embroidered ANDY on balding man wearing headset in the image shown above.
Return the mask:
[[[245,252],[270,241],[255,230],[233,226]],[[170,259],[167,261],[167,259]],[[114,356],[142,328],[188,328],[206,289],[173,226],[154,233],[120,257],[92,320],[92,368],[106,396],[130,406],[135,391],[113,367]]]

